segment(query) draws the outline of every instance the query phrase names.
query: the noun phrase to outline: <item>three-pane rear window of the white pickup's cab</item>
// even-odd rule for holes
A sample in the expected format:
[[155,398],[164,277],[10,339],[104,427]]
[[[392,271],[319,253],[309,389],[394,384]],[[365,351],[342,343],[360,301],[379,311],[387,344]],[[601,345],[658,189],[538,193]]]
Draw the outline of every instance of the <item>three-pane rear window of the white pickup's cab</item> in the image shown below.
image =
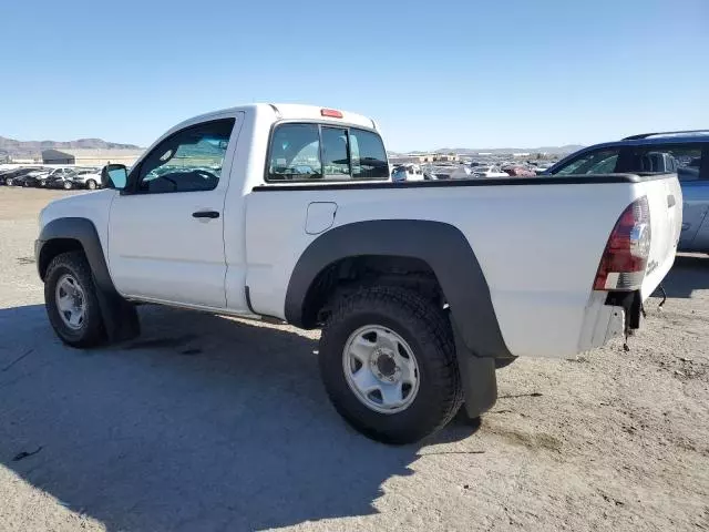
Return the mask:
[[358,127],[288,123],[274,131],[266,181],[389,178],[381,137]]

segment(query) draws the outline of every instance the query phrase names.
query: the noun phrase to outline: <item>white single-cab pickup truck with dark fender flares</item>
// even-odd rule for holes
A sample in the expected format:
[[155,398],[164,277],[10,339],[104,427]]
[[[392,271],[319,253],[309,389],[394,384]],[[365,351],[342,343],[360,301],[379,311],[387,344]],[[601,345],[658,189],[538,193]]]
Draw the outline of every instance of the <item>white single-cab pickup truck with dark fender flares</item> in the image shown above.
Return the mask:
[[489,410],[516,357],[637,328],[682,217],[676,175],[394,183],[372,120],[306,105],[197,116],[102,178],[40,215],[65,344],[136,336],[135,303],[322,328],[332,403],[389,443]]

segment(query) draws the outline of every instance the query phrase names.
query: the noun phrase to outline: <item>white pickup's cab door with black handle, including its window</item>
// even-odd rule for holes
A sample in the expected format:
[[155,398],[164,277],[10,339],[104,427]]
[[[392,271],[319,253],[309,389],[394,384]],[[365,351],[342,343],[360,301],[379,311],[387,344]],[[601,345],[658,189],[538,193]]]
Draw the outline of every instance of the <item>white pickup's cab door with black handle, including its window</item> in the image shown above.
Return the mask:
[[121,294],[226,306],[224,204],[236,121],[177,131],[133,168],[109,222],[109,267]]

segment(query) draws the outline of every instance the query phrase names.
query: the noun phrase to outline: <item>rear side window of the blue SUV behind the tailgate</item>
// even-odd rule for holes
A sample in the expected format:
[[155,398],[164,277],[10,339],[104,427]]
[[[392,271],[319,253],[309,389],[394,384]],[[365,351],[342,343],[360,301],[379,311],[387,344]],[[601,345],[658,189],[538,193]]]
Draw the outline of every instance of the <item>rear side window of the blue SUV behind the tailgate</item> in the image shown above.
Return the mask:
[[700,144],[636,146],[628,157],[628,172],[677,172],[679,181],[698,181],[701,166]]

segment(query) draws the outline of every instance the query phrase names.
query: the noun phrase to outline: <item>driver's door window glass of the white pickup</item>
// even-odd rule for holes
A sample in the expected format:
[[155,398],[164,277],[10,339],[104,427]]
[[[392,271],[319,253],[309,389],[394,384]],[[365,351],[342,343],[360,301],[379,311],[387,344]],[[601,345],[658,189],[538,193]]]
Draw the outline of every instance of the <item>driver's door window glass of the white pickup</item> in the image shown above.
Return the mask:
[[205,122],[165,139],[141,163],[137,192],[201,192],[216,188],[234,119]]

